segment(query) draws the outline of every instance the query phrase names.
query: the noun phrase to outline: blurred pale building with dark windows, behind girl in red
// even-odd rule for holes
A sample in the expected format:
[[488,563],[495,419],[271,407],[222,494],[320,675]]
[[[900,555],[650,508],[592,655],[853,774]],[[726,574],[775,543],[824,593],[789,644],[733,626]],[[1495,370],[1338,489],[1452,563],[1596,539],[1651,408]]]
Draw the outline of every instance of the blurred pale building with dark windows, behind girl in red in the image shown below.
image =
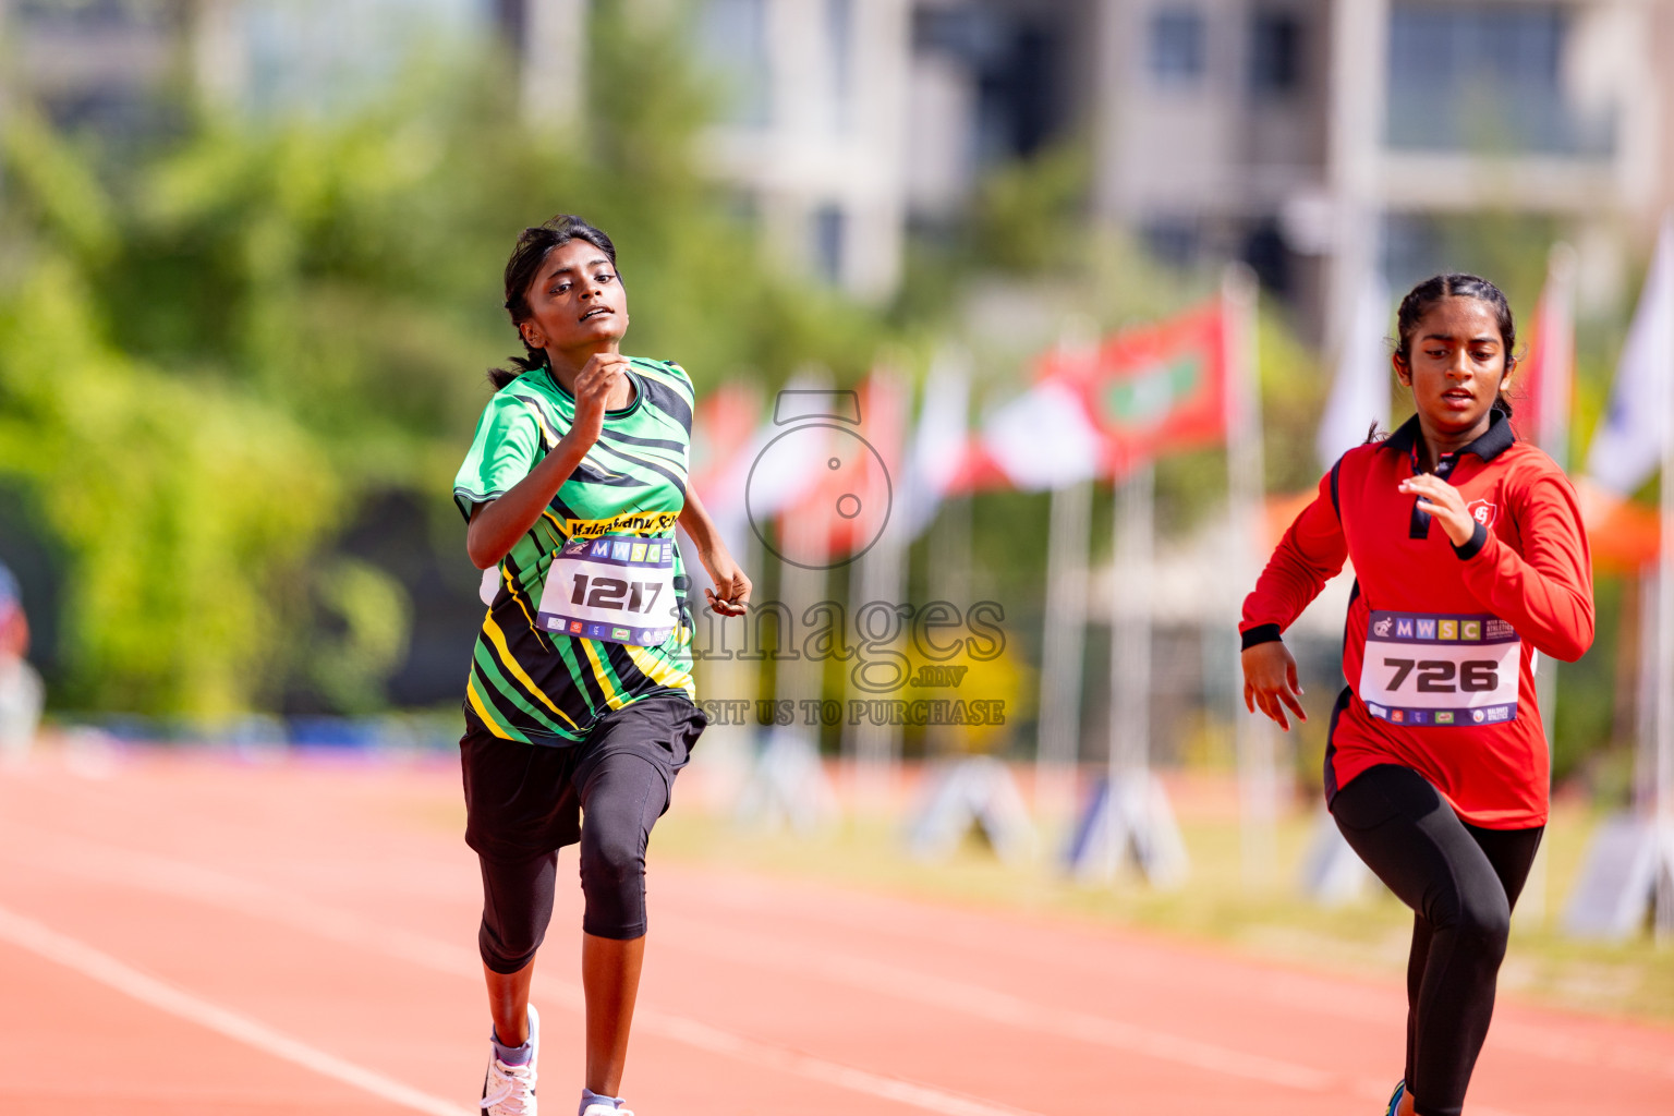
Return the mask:
[[1671,204],[1661,0],[1101,0],[1101,216],[1242,258],[1336,343],[1363,276],[1448,264],[1453,214],[1543,216],[1600,281]]

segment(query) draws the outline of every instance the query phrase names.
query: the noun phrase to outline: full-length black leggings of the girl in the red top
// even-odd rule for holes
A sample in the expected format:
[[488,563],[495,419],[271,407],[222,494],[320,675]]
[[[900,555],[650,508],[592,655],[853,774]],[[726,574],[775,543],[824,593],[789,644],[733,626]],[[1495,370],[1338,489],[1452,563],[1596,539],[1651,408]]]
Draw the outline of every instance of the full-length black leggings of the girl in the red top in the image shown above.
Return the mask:
[[1458,1116],[1493,1016],[1493,987],[1543,828],[1461,822],[1410,768],[1379,765],[1331,815],[1378,878],[1413,909],[1406,962],[1406,1091],[1418,1116]]

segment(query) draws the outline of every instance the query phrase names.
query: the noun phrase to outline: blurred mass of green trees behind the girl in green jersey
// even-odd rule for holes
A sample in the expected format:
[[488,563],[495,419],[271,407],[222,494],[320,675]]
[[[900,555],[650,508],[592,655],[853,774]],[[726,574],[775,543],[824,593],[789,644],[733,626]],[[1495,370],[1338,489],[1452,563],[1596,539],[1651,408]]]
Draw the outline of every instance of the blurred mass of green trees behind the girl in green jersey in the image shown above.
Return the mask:
[[[501,269],[552,212],[616,238],[624,348],[700,388],[865,370],[879,318],[765,263],[693,162],[710,104],[680,28],[626,7],[596,5],[569,131],[524,125],[494,54],[336,115],[187,115],[121,166],[8,114],[0,482],[74,566],[55,703],[383,704],[413,601],[345,532],[390,494],[454,515],[482,370],[519,351]],[[412,539],[464,562],[457,519]]]

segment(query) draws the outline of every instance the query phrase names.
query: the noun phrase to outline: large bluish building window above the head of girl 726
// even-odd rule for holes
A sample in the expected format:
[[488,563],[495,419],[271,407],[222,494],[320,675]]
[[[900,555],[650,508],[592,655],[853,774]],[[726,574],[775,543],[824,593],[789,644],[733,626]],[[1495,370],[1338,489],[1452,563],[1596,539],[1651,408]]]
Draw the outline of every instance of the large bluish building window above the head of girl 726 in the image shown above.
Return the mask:
[[1389,146],[1609,156],[1612,114],[1584,112],[1564,85],[1570,33],[1570,12],[1550,2],[1396,0]]

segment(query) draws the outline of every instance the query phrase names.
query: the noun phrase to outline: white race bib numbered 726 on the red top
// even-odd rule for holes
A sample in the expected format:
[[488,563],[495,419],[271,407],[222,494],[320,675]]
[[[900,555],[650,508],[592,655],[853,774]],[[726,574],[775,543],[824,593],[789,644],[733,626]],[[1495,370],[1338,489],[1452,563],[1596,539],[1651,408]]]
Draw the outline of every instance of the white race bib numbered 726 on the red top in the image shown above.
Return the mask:
[[1502,724],[1517,719],[1517,629],[1497,616],[1374,611],[1359,698],[1393,724]]

